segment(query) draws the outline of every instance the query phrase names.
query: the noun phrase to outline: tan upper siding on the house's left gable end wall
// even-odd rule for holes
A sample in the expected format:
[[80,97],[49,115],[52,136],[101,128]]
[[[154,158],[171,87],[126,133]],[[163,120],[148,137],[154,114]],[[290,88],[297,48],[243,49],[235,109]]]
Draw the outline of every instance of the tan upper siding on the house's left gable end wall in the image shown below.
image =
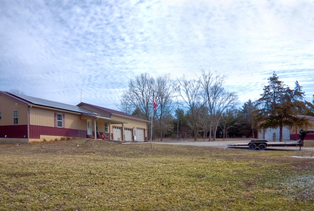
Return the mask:
[[26,104],[0,94],[0,112],[2,112],[0,125],[13,125],[14,110],[18,110],[18,125],[26,125],[27,108]]

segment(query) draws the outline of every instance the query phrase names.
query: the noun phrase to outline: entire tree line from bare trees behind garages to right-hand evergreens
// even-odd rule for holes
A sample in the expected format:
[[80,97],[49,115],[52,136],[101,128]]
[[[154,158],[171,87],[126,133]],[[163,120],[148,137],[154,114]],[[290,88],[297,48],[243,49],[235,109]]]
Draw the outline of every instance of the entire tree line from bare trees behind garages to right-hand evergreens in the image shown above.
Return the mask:
[[[215,141],[216,138],[252,137],[259,130],[284,126],[308,126],[305,117],[314,116],[313,101],[304,99],[299,83],[290,89],[273,73],[256,101],[238,107],[235,92],[225,90],[225,76],[201,70],[196,79],[184,75],[171,79],[169,74],[153,77],[142,73],[130,79],[117,107],[128,114],[148,120],[148,137],[153,139],[191,138]],[[157,109],[153,109],[153,94]]]

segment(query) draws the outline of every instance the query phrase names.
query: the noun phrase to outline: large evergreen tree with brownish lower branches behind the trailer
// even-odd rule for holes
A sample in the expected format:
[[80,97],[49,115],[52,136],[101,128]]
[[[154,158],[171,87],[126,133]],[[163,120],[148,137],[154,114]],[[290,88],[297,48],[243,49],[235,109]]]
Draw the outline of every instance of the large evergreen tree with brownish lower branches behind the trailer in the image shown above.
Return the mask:
[[307,126],[308,119],[297,117],[307,109],[301,89],[302,87],[296,81],[294,90],[291,90],[273,73],[273,76],[268,78],[268,85],[263,88],[262,97],[257,101],[262,105],[262,109],[257,110],[258,128],[279,127],[279,140],[283,141],[284,126]]

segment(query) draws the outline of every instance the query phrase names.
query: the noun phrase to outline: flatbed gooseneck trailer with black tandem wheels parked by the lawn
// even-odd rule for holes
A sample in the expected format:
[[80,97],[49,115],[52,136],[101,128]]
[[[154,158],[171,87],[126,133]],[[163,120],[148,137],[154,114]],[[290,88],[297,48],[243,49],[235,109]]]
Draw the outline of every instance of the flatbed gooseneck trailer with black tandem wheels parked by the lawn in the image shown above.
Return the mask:
[[284,142],[273,142],[267,140],[252,140],[250,142],[239,142],[239,143],[230,143],[228,146],[248,146],[249,149],[255,150],[265,150],[268,146],[299,146],[300,150],[303,146],[304,138],[307,134],[314,133],[314,130],[300,130],[299,141],[284,141]]

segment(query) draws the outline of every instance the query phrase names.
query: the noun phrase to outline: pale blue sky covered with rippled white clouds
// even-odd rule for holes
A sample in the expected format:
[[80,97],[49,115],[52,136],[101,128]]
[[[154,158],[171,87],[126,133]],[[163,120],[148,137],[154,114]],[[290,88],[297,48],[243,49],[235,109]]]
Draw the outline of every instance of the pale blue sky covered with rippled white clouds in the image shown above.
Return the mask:
[[314,0],[0,0],[0,90],[116,109],[135,75],[227,76],[256,100],[275,73],[314,94]]

